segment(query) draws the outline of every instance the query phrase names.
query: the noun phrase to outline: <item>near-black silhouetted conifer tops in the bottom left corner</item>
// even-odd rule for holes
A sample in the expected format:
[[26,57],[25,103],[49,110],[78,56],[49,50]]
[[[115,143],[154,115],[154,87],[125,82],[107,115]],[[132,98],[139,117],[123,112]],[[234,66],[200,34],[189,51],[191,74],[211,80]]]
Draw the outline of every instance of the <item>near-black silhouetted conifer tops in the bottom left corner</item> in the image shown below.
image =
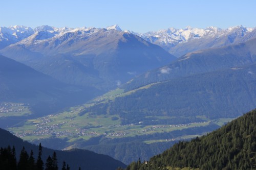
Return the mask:
[[[39,144],[38,156],[35,160],[33,150],[30,154],[27,153],[25,147],[19,154],[19,159],[16,159],[15,147],[1,148],[0,150],[0,169],[8,170],[58,170],[57,155],[53,152],[52,156],[48,156],[46,163],[42,161],[42,146]],[[79,168],[80,169],[80,168]],[[61,170],[70,170],[69,164],[63,161]]]

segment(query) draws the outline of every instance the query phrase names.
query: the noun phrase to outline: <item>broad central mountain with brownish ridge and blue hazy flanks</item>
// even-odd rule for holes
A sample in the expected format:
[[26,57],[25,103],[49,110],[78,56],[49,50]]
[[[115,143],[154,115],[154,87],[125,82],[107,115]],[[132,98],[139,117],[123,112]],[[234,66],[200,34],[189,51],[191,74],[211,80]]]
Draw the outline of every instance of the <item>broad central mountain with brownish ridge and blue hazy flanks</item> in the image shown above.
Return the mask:
[[49,30],[37,29],[0,53],[60,81],[104,90],[175,59],[161,47],[118,29],[81,28],[58,34]]

